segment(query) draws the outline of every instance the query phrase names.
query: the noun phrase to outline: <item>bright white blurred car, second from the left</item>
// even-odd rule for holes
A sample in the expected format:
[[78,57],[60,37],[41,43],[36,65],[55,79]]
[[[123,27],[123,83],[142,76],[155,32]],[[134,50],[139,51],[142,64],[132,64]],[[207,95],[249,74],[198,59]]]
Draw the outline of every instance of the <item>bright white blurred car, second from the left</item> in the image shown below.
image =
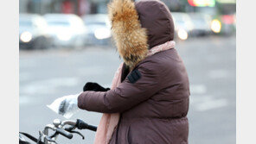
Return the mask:
[[46,14],[48,34],[54,38],[54,47],[80,47],[86,28],[79,16],[74,14]]

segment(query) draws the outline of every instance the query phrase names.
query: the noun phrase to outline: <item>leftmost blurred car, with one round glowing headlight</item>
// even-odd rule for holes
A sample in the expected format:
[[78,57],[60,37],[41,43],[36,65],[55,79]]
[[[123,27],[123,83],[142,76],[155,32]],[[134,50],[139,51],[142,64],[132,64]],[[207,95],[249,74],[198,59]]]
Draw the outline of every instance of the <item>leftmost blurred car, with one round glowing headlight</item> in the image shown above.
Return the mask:
[[50,47],[47,22],[35,14],[19,15],[19,46],[21,49],[45,49]]

